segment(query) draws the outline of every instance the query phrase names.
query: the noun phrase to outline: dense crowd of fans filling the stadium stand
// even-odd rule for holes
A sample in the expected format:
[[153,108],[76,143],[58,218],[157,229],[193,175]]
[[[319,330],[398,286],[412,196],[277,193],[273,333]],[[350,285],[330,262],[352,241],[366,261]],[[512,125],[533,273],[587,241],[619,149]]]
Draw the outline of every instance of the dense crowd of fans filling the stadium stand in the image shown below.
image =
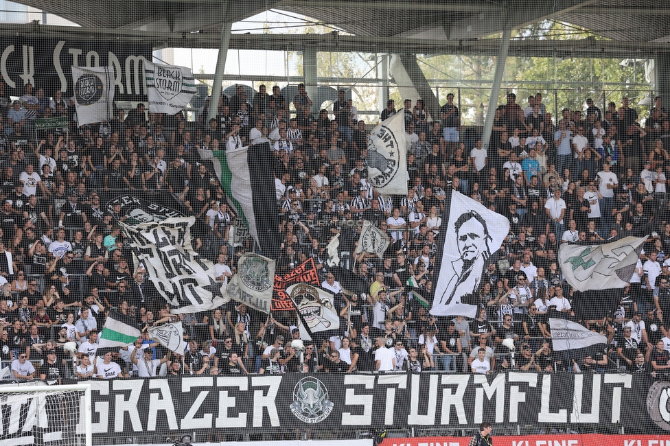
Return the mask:
[[[26,84],[12,101],[4,88],[0,82],[0,360],[14,379],[621,367],[661,376],[670,368],[670,121],[660,97],[640,126],[625,98],[607,110],[587,99],[586,110],[564,108],[554,119],[540,93],[525,107],[509,93],[487,147],[476,129],[462,131],[454,95],[439,117],[421,99],[406,99],[400,110],[389,100],[382,120],[404,114],[408,194],[382,196],[368,181],[369,123],[358,119],[345,91],[332,110],[313,110],[302,84],[292,98],[279,86],[271,94],[259,86],[247,98],[239,86],[220,97],[213,119],[206,119],[208,98],[195,123],[137,104],[127,116],[118,109],[113,121],[80,128],[73,100],[60,91]],[[49,117],[67,117],[68,128],[36,129],[36,119]],[[294,312],[268,317],[235,301],[206,314],[170,314],[143,266],[132,266],[117,224],[128,216],[106,207],[121,191],[170,193],[202,223],[194,248],[227,283],[253,246],[232,246],[235,215],[200,151],[258,143],[272,148],[277,272],[312,258],[322,286],[336,295],[340,329],[324,338],[295,342]],[[417,297],[437,281],[450,188],[505,215],[511,227],[483,273],[473,320],[431,316]],[[351,222],[362,220],[389,236],[383,259],[352,254],[360,224]],[[576,315],[607,336],[606,349],[575,358],[552,351],[548,312],[575,316],[557,263],[560,244],[608,239],[649,222],[654,231],[616,311],[595,320]],[[343,290],[325,263],[325,246],[337,234],[342,264],[355,265],[368,292]],[[110,311],[130,316],[142,335],[98,352]],[[147,331],[177,319],[185,327],[183,356]]]

